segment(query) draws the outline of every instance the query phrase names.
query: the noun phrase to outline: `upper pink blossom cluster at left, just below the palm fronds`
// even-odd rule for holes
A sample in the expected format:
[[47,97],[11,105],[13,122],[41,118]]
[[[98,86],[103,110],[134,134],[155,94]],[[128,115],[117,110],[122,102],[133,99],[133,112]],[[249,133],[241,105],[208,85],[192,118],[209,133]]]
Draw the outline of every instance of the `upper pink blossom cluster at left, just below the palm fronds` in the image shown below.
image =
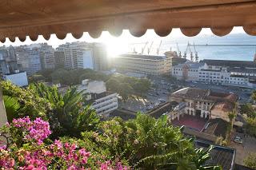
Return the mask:
[[26,140],[36,140],[38,144],[50,136],[50,125],[47,121],[43,121],[41,117],[30,121],[30,117],[14,119],[12,125],[16,128],[24,129],[27,134],[24,137]]

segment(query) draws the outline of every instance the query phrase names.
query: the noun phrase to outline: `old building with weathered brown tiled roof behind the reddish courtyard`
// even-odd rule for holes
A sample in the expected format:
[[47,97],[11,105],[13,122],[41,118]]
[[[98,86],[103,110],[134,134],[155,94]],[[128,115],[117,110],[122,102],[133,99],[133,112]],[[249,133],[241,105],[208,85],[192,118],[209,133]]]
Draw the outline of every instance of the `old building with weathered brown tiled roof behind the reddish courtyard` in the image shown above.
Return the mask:
[[229,120],[229,113],[235,109],[238,96],[233,93],[219,93],[210,89],[184,88],[170,94],[170,102],[178,102],[178,108],[171,115],[174,120],[182,114],[206,119]]

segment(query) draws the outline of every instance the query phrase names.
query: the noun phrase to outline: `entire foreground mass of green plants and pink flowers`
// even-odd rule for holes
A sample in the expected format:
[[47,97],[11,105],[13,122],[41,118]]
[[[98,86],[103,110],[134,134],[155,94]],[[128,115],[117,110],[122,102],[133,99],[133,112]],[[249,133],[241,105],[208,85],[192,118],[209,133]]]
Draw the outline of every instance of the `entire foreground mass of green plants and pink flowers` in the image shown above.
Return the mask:
[[[130,79],[123,80],[130,83]],[[12,137],[10,144],[0,148],[2,167],[220,169],[205,165],[211,148],[195,149],[193,140],[186,139],[182,128],[174,128],[166,117],[138,114],[130,121],[115,117],[99,122],[74,88],[61,95],[56,87],[43,84],[27,89],[8,82],[1,85],[7,100],[14,102],[8,115],[14,112],[17,117],[8,116],[13,120],[1,129]]]

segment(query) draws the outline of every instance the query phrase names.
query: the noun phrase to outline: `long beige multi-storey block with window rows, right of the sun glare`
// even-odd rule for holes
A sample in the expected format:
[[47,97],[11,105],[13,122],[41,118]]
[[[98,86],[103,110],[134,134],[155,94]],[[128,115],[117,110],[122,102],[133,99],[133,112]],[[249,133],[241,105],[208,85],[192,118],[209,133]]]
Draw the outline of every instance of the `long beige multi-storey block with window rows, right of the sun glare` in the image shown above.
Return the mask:
[[126,53],[114,57],[113,66],[128,73],[160,75],[170,73],[171,57]]

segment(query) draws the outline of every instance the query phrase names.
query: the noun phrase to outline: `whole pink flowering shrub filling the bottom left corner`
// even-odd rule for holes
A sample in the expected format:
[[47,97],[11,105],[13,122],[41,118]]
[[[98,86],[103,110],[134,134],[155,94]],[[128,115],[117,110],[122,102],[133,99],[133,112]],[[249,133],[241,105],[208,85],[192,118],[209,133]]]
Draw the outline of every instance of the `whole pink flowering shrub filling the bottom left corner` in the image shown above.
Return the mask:
[[12,143],[7,148],[0,148],[2,169],[127,169],[121,162],[98,159],[94,153],[80,147],[78,142],[54,140],[50,144],[44,143],[43,140],[50,135],[50,128],[48,122],[42,121],[41,118],[34,121],[30,121],[29,117],[20,118],[2,129],[5,132],[24,131],[22,147]]

